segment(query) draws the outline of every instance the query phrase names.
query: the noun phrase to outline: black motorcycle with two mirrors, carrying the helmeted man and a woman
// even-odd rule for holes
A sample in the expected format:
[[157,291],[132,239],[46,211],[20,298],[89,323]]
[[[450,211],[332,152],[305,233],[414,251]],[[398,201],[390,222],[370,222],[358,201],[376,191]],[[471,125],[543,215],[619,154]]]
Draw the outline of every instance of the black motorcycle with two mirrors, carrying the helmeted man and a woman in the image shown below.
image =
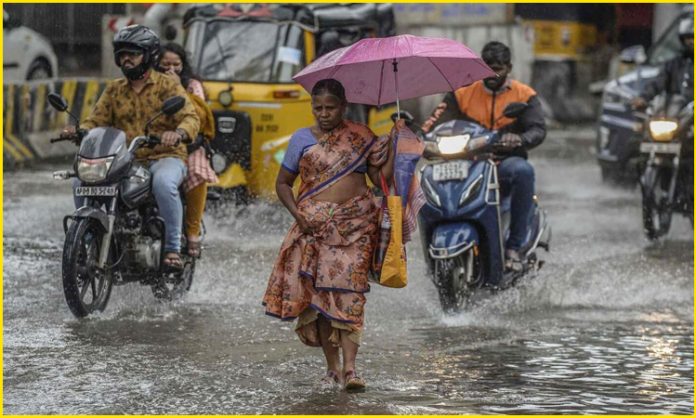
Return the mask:
[[[79,129],[79,121],[68,112],[63,97],[51,93],[48,101],[72,116],[78,128],[72,137],[51,139],[52,143],[73,141],[80,147],[74,171],[53,174],[56,179],[77,177],[80,184],[74,194],[84,199],[75,213],[63,219],[63,291],[72,313],[85,317],[103,311],[112,286],[130,282],[150,286],[160,300],[183,296],[191,287],[196,260],[184,251],[183,269],[172,269],[162,262],[165,224],[151,192],[152,175],[135,161],[135,152],[160,143],[159,138],[148,134],[150,124],[181,110],[185,99],[167,99],[145,125],[144,135],[134,138],[130,146],[121,130]],[[185,248],[186,243],[182,244]]]

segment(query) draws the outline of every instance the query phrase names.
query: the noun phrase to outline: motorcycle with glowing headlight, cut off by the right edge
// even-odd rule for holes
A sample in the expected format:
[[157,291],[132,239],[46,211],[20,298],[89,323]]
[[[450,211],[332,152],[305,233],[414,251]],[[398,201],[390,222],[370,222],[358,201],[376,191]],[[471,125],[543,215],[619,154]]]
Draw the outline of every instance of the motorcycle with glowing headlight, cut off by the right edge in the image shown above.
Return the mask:
[[640,144],[643,228],[650,240],[669,232],[674,212],[688,217],[693,227],[694,102],[685,102],[674,96],[665,111],[649,109]]

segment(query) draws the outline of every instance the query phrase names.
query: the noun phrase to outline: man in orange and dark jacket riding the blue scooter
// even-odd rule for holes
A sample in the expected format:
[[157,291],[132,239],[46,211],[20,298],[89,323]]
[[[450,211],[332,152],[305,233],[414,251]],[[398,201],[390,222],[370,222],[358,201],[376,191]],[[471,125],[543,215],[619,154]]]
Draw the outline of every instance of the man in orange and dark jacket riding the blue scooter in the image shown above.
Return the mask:
[[[491,130],[503,130],[499,148],[493,156],[498,161],[498,175],[504,194],[511,194],[510,236],[505,243],[505,267],[522,270],[520,247],[528,234],[534,198],[534,168],[527,161],[527,151],[546,137],[541,103],[536,92],[509,77],[512,70],[510,49],[500,42],[487,43],[481,51],[483,61],[496,72],[472,85],[448,93],[433,111],[422,129],[452,119],[472,120]],[[529,107],[516,120],[501,117],[512,102]]]

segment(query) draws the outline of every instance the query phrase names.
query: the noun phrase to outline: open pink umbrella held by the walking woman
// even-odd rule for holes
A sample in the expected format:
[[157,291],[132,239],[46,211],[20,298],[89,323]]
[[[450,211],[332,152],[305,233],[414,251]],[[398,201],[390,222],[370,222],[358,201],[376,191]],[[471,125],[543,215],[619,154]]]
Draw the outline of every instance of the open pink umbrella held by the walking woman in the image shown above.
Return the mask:
[[321,56],[293,79],[307,91],[325,78],[341,82],[351,103],[383,105],[453,91],[495,73],[471,49],[445,38],[367,38]]

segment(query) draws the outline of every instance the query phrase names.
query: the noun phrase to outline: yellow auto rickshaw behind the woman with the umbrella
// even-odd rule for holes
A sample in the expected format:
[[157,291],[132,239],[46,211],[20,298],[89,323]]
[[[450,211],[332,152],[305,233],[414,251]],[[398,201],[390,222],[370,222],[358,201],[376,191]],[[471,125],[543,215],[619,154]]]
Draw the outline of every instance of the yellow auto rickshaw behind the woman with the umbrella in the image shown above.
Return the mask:
[[[184,31],[215,116],[213,190],[274,199],[292,133],[314,123],[311,97],[292,76],[333,49],[393,35],[394,13],[388,4],[204,5],[188,10]],[[381,135],[393,112],[351,105],[346,117]]]

